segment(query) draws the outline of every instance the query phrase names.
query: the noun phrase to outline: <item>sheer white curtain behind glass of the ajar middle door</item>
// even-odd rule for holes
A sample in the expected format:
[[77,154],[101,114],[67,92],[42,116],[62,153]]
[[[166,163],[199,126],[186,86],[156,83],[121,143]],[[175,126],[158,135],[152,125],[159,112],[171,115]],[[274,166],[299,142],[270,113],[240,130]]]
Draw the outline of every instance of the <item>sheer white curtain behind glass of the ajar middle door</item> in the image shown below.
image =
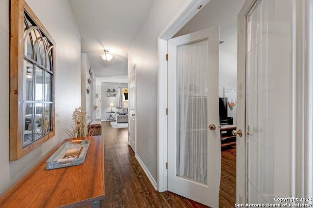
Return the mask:
[[208,40],[177,47],[177,171],[207,185]]

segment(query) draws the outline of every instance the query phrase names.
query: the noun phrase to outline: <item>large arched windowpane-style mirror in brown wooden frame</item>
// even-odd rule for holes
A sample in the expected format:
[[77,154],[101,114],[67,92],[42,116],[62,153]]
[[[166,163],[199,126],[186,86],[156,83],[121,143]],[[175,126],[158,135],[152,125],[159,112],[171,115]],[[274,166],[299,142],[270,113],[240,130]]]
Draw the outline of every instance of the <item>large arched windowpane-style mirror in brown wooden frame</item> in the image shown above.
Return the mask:
[[54,136],[55,43],[24,0],[11,0],[10,160]]

